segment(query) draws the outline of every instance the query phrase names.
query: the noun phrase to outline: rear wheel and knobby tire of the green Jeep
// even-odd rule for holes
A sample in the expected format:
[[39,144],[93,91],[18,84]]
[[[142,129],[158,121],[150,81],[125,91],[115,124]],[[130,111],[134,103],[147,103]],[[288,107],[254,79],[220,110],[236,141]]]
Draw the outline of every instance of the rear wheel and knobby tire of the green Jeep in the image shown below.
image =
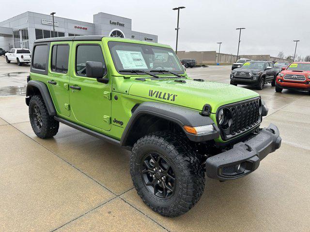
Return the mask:
[[31,97],[29,118],[33,132],[41,139],[51,138],[57,134],[59,122],[49,116],[41,95]]

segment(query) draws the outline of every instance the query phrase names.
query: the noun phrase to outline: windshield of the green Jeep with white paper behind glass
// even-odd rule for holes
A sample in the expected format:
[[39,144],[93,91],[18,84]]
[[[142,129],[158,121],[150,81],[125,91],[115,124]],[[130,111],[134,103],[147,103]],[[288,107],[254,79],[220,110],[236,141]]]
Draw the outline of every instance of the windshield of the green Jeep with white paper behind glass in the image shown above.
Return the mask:
[[184,73],[178,57],[171,48],[117,41],[110,41],[108,45],[117,71],[169,70],[178,74]]

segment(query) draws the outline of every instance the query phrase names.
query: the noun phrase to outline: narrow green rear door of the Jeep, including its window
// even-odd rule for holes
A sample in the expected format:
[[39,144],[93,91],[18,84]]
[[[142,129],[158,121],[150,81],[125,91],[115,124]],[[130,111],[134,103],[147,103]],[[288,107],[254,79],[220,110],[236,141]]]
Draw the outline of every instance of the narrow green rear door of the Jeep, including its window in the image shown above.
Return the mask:
[[64,116],[70,116],[68,67],[71,50],[72,42],[50,44],[47,87],[57,113]]

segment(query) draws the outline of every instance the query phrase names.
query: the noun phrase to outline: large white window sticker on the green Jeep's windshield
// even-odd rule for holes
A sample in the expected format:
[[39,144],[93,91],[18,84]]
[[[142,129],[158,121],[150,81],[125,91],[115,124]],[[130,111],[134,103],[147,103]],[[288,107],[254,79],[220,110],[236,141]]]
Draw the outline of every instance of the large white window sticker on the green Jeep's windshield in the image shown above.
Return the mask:
[[141,52],[116,50],[124,69],[148,69]]

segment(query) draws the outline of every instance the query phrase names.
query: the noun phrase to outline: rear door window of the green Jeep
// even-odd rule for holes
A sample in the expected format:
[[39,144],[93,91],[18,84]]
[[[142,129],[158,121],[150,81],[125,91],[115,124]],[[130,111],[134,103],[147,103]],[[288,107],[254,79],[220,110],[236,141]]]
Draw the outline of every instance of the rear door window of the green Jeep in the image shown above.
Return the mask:
[[51,70],[53,72],[67,73],[70,46],[67,44],[54,45],[52,47]]

